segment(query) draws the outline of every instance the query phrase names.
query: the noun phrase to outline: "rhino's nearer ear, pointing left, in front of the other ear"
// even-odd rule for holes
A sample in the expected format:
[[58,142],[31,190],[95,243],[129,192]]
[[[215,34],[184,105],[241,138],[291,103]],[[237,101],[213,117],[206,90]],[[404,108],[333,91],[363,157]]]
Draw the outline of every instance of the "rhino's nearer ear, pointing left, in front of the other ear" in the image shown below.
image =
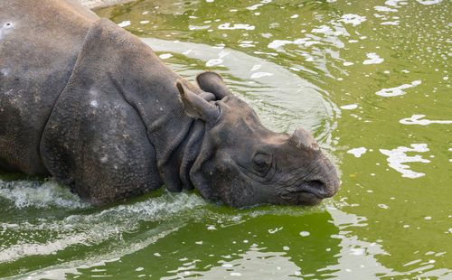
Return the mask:
[[207,102],[204,98],[195,94],[190,89],[186,89],[180,81],[177,81],[175,86],[179,90],[179,99],[188,116],[200,118],[208,123],[213,123],[217,120],[220,115],[218,107]]

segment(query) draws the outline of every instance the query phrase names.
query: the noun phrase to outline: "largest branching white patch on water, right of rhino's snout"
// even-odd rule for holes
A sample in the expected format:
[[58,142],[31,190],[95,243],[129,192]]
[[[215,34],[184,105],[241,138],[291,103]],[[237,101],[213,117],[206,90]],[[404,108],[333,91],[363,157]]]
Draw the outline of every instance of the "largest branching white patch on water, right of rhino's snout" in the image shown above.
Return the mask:
[[429,160],[422,158],[421,155],[416,154],[409,156],[408,152],[425,153],[428,152],[427,144],[411,144],[411,148],[400,146],[392,150],[380,149],[381,154],[388,156],[388,164],[391,168],[401,173],[402,177],[416,179],[425,176],[425,173],[416,173],[410,170],[410,166],[403,163],[430,163]]

